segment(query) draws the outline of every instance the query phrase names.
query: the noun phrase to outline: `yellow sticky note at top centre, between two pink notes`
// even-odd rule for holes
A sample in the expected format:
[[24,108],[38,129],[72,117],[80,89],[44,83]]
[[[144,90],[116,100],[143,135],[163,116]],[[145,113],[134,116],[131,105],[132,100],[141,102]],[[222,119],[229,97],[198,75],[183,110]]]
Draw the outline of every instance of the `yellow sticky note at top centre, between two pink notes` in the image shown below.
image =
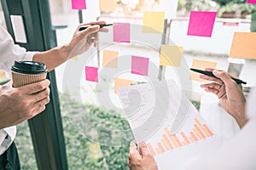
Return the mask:
[[165,12],[144,12],[143,32],[161,34],[165,26]]

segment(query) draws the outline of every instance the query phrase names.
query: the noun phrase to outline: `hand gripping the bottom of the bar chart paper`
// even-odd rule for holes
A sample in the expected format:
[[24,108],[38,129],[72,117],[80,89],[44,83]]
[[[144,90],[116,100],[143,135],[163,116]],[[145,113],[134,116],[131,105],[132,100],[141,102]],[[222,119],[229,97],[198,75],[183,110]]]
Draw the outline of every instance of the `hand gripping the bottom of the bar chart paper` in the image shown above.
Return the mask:
[[137,144],[131,142],[128,167],[131,170],[157,170],[157,164],[147,148],[147,145],[143,142],[139,144],[139,150],[137,150]]

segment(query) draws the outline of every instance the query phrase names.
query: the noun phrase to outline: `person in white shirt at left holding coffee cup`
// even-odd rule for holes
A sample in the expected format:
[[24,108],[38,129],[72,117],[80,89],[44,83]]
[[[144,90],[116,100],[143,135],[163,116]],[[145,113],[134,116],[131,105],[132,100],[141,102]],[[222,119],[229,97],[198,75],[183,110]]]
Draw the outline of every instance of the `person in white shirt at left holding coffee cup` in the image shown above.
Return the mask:
[[[44,63],[48,71],[51,71],[67,59],[84,53],[91,44],[96,46],[97,31],[108,31],[106,28],[100,28],[99,25],[102,24],[106,23],[96,21],[82,24],[80,26],[89,27],[84,31],[79,31],[80,26],[78,26],[69,43],[45,52],[27,52],[25,48],[15,45],[9,33],[0,26],[0,70],[9,73],[15,60],[33,60]],[[44,111],[47,103],[49,103],[49,80],[20,88],[13,88],[10,81],[0,87],[0,169],[8,167],[20,169],[20,162],[13,143],[16,134],[15,125]],[[13,157],[9,158],[9,155]]]

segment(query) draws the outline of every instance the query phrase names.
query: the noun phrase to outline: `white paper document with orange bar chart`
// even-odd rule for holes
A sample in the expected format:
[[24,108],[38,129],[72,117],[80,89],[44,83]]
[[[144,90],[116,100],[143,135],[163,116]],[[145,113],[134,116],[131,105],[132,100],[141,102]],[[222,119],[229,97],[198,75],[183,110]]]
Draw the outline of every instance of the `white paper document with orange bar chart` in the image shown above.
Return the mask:
[[[118,88],[117,93],[135,139],[146,142],[159,169],[189,169],[189,161],[220,144],[172,80]],[[182,126],[171,133],[180,117],[185,117]]]

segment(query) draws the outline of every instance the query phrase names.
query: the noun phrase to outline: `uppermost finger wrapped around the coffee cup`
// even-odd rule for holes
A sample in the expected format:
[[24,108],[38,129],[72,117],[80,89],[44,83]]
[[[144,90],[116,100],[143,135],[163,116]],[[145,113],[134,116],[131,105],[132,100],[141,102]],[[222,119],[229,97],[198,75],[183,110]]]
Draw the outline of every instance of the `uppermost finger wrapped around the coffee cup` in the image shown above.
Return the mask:
[[45,79],[41,82],[35,82],[26,86],[20,87],[20,90],[24,90],[26,94],[36,94],[49,87],[49,80]]

